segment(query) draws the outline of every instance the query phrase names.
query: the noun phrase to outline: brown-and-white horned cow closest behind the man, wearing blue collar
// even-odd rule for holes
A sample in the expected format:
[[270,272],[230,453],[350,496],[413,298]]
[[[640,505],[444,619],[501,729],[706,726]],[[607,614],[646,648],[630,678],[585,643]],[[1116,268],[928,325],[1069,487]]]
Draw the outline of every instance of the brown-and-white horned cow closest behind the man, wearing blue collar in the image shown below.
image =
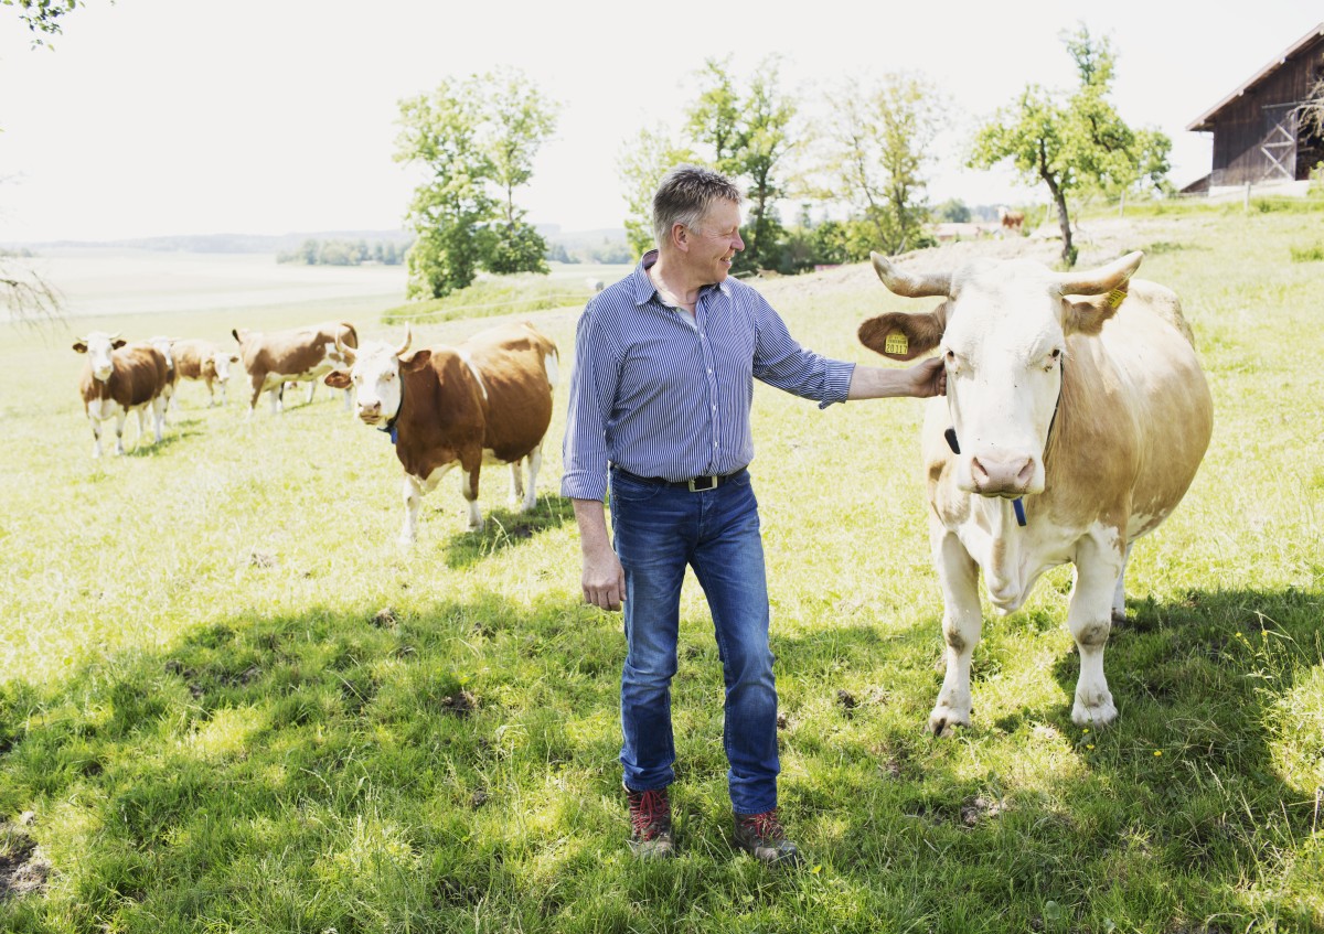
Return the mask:
[[[520,511],[538,499],[543,435],[552,418],[557,380],[556,344],[531,324],[506,324],[474,335],[458,347],[422,348],[405,356],[412,341],[405,325],[400,347],[371,341],[347,352],[350,370],[335,370],[326,384],[355,388],[359,418],[389,431],[404,467],[402,544],[418,533],[418,507],[455,464],[469,501],[469,528],[483,527],[478,474],[483,463],[508,463],[511,501]],[[528,463],[528,487],[520,464]]]

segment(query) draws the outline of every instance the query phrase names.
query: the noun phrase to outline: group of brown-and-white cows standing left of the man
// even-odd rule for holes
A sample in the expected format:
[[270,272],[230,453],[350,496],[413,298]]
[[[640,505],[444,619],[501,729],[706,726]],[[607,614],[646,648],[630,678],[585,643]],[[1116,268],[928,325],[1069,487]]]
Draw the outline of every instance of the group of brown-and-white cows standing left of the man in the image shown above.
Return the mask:
[[[543,435],[552,419],[552,390],[557,380],[556,345],[531,324],[507,324],[474,335],[457,347],[430,347],[409,353],[412,332],[399,347],[368,341],[359,347],[352,324],[330,321],[291,331],[233,331],[240,352],[230,353],[205,340],[152,337],[130,344],[119,335],[93,331],[74,343],[87,356],[79,389],[91,423],[93,456],[101,456],[103,422],[115,422],[115,454],[124,452],[124,422],[138,415],[139,442],[152,418],[162,441],[166,417],[179,380],[214,388],[221,402],[230,365],[242,362],[252,394],[249,418],[262,393],[271,413],[283,410],[286,389],[316,381],[351,390],[365,425],[391,434],[405,471],[404,541],[413,541],[420,499],[457,464],[465,474],[461,487],[469,503],[469,528],[482,528],[478,476],[483,463],[511,467],[511,499],[516,508],[532,508]],[[528,482],[524,483],[523,468]]]

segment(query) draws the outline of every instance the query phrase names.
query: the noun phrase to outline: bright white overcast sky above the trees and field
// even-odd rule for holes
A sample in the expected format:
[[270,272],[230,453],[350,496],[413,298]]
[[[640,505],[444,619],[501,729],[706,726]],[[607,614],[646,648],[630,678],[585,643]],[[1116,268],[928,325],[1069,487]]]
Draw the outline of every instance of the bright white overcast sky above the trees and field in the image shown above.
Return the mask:
[[730,56],[743,78],[773,53],[810,114],[847,78],[936,85],[951,107],[932,202],[1043,202],[963,155],[1027,83],[1075,83],[1062,34],[1080,22],[1111,38],[1113,102],[1172,138],[1182,185],[1210,168],[1210,135],[1185,127],[1324,19],[1319,0],[1235,16],[1162,0],[86,4],[53,49],[0,5],[0,242],[400,229],[420,176],[392,157],[399,102],[496,66],[563,106],[516,193],[527,218],[617,228],[622,147],[679,128],[706,58]]

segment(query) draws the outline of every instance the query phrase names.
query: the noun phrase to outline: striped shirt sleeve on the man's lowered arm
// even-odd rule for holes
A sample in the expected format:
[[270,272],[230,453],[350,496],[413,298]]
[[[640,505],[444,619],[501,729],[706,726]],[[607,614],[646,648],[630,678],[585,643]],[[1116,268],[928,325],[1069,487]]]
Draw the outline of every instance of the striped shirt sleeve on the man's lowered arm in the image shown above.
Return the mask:
[[571,499],[606,499],[606,431],[621,378],[621,343],[606,315],[589,302],[575,332],[575,369],[571,374],[569,413],[561,443],[561,495]]

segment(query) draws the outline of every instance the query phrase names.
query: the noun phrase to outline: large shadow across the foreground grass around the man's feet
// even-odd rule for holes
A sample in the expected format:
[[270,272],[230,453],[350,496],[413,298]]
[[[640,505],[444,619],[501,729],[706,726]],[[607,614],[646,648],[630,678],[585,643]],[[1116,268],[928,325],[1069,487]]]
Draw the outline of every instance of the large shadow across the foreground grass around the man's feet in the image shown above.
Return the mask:
[[[675,930],[822,912],[816,931],[1241,931],[1246,878],[1276,886],[1313,832],[1270,724],[1320,664],[1319,603],[1133,605],[1106,661],[1121,717],[1099,734],[1070,721],[1066,652],[1038,673],[1062,702],[980,714],[1018,664],[998,643],[1041,638],[1039,615],[986,628],[974,725],[953,740],[923,732],[936,619],[775,636],[781,803],[810,861],[779,876],[732,859],[706,618],[682,623],[673,696],[682,857],[641,870],[624,855],[618,616],[490,591],[241,610],[0,688],[0,824],[32,814],[0,829],[58,877],[0,897],[0,929],[628,930],[646,902]],[[1287,638],[1256,642],[1250,619]],[[1255,917],[1308,929],[1284,890]]]

